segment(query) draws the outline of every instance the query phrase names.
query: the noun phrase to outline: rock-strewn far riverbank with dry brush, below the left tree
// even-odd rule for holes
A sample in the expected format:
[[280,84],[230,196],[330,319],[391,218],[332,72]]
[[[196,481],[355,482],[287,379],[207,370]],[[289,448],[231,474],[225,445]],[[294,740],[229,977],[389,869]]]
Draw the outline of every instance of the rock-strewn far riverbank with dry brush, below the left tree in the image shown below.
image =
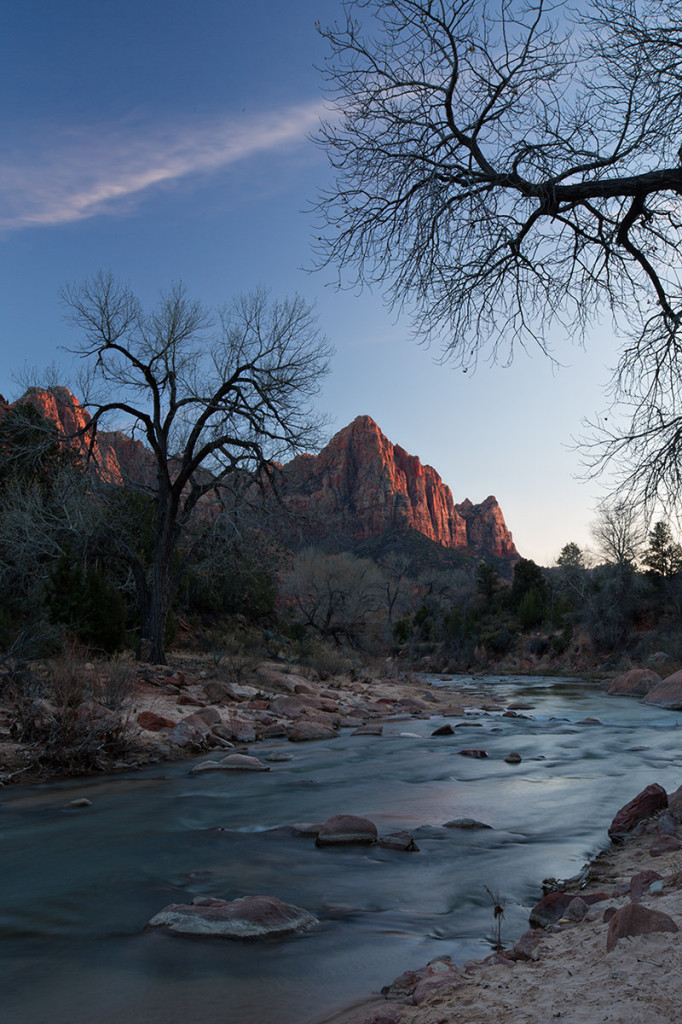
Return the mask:
[[[324,678],[294,663],[248,671],[209,655],[170,666],[71,658],[35,665],[0,700],[0,785],[129,770],[199,754],[257,757],[261,740],[381,731],[384,719],[460,715],[481,697],[377,665]],[[502,708],[494,693],[484,696]]]

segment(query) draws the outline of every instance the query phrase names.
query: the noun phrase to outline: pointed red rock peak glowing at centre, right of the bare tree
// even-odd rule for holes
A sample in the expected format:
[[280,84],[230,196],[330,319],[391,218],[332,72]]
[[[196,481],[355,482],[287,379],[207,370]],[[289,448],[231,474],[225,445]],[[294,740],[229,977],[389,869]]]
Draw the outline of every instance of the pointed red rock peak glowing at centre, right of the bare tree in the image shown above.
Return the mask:
[[518,558],[494,497],[456,505],[436,471],[392,444],[369,416],[340,430],[319,455],[282,467],[280,486],[286,505],[322,532],[364,540],[414,529],[446,548]]

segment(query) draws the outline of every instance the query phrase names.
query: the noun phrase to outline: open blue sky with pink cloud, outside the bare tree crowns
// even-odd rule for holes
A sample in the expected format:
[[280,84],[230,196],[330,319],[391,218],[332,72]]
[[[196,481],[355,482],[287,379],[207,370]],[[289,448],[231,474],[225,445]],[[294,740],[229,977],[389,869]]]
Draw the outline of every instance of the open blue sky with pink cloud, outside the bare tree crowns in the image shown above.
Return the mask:
[[309,208],[330,181],[315,22],[337,0],[4,0],[0,7],[0,393],[77,341],[58,293],[98,269],[153,304],[171,283],[209,306],[259,285],[316,307],[336,349],[330,434],[369,415],[456,502],[497,497],[521,555],[590,544],[603,497],[574,438],[606,407],[607,321],[464,375],[418,345],[382,296],[311,271]]

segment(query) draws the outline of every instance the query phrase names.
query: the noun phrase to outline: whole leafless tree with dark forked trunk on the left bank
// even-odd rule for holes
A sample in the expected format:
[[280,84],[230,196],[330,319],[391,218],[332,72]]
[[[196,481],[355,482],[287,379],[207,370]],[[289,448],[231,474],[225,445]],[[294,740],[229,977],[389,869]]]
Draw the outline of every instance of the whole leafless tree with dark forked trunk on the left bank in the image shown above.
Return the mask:
[[175,286],[146,312],[100,272],[62,298],[83,335],[74,351],[88,368],[93,434],[108,414],[123,415],[154,462],[152,485],[138,484],[153,509],[150,564],[125,540],[118,555],[135,575],[148,656],[163,663],[180,539],[202,500],[219,499],[237,474],[268,473],[272,460],[317,443],[323,421],[311,402],[331,349],[299,297],[257,291],[210,313]]

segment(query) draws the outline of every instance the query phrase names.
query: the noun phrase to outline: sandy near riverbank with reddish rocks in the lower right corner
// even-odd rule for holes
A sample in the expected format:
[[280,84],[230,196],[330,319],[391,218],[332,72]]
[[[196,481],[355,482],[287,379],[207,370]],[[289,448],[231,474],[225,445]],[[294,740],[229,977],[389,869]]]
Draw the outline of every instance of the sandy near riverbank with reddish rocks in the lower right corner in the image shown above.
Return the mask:
[[[588,904],[582,920],[569,920],[585,910],[579,905],[573,914],[564,910],[556,924],[531,930],[515,947],[484,962],[460,969],[434,962],[387,985],[385,998],[357,1005],[321,1024],[679,1021],[682,851],[660,852],[660,847],[674,846],[662,837],[680,838],[681,826],[664,812],[642,828],[643,835],[600,853],[590,864],[587,884],[580,889]],[[644,912],[628,909],[626,916],[633,904]],[[623,919],[625,925],[619,930],[627,934],[617,937],[611,921],[622,909],[617,921]],[[647,910],[665,918],[650,918]],[[628,934],[652,922],[671,930]],[[419,1005],[411,1005],[415,1001]]]

